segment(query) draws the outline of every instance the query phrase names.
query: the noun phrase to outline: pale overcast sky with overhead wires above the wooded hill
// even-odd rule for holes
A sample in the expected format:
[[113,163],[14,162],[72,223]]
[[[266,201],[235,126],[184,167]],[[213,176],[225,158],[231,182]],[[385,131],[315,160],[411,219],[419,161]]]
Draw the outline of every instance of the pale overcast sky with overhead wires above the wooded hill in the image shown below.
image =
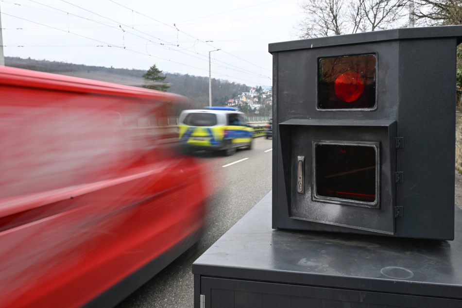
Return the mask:
[[297,0],[1,0],[5,56],[272,86],[268,44],[296,39]]

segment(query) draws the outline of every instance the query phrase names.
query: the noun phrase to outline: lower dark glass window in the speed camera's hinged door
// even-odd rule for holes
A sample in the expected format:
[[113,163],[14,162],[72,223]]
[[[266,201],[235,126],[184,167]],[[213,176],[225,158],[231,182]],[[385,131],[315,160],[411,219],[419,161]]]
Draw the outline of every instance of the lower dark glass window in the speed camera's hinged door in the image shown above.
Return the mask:
[[362,202],[376,200],[376,148],[315,144],[317,196]]

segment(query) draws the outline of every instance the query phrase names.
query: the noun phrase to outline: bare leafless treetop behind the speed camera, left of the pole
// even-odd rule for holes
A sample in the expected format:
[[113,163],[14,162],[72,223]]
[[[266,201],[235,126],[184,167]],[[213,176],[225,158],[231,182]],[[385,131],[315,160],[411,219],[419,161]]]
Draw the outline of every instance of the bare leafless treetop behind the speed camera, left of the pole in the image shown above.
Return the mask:
[[405,24],[408,0],[306,0],[297,24],[300,38],[396,28]]

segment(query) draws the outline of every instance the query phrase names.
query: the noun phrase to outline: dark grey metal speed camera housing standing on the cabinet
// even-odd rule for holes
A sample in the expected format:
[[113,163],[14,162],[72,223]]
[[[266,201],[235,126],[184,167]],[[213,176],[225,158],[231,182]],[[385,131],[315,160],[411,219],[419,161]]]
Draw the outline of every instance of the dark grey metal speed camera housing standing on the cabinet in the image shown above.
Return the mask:
[[[447,26],[269,45],[273,228],[454,239],[461,39],[462,26]],[[323,88],[329,69],[358,59],[369,62]],[[336,103],[340,80],[359,75],[367,97]]]

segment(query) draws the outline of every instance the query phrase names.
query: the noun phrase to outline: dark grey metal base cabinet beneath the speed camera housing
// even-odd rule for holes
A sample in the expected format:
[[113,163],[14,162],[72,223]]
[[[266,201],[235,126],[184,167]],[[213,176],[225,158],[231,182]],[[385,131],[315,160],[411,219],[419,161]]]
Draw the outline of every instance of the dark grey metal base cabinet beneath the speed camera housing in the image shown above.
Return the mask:
[[194,307],[462,307],[453,241],[271,228],[271,192],[192,265]]

